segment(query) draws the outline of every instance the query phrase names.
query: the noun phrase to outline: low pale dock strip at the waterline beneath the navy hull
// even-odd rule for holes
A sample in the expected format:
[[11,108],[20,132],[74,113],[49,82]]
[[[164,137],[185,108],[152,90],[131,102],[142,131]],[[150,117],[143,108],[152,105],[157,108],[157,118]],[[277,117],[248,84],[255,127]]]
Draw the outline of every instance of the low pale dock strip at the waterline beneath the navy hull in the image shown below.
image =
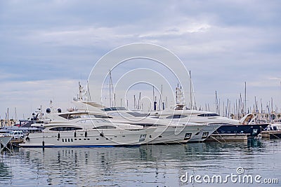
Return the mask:
[[247,134],[211,134],[205,141],[247,141]]

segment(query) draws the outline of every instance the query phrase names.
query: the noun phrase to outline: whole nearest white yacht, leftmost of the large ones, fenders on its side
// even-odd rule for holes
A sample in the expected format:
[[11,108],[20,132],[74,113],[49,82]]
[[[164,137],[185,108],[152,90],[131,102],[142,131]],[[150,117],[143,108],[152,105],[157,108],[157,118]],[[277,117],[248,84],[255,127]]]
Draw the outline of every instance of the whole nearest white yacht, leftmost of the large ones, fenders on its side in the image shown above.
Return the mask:
[[89,147],[133,146],[148,142],[148,134],[155,128],[138,125],[110,123],[101,118],[73,118],[55,120],[48,124],[33,124],[44,127],[43,132],[27,134],[22,147]]

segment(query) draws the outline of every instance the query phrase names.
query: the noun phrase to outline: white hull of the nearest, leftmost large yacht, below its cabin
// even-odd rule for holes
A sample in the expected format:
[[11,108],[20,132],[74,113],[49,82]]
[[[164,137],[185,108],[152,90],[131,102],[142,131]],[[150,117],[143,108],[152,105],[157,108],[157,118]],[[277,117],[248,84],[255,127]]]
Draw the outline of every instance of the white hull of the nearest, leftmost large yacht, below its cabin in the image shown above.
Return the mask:
[[77,130],[38,132],[25,137],[22,147],[133,146],[148,141],[150,130]]

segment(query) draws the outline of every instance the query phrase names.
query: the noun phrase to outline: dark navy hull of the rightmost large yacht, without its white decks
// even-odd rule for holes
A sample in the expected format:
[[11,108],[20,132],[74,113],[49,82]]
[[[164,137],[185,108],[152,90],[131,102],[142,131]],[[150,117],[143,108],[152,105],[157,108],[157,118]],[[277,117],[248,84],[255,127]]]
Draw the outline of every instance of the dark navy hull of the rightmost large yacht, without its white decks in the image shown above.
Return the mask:
[[254,138],[261,131],[265,130],[269,124],[249,124],[249,125],[234,125],[224,124],[219,127],[213,134],[247,134],[248,138]]

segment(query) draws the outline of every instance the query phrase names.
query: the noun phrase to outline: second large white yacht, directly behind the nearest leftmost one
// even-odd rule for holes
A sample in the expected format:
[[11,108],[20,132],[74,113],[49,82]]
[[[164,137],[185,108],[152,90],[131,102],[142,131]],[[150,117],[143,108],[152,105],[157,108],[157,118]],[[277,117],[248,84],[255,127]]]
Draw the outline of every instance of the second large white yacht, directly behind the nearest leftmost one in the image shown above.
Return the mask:
[[[78,102],[79,103],[79,102]],[[81,104],[81,103],[79,103]],[[51,111],[51,110],[48,110]],[[110,121],[112,124],[127,124],[135,125],[142,129],[154,128],[155,131],[148,134],[148,142],[143,144],[176,144],[185,143],[195,134],[202,130],[205,125],[190,123],[190,125],[176,124],[170,120],[163,120],[159,118],[150,118],[143,116],[141,113],[127,111],[124,107],[110,107],[98,109],[94,107],[93,110],[82,109],[76,111],[67,111],[64,113],[49,112],[51,120],[68,120],[70,123],[74,119],[100,118]]]

